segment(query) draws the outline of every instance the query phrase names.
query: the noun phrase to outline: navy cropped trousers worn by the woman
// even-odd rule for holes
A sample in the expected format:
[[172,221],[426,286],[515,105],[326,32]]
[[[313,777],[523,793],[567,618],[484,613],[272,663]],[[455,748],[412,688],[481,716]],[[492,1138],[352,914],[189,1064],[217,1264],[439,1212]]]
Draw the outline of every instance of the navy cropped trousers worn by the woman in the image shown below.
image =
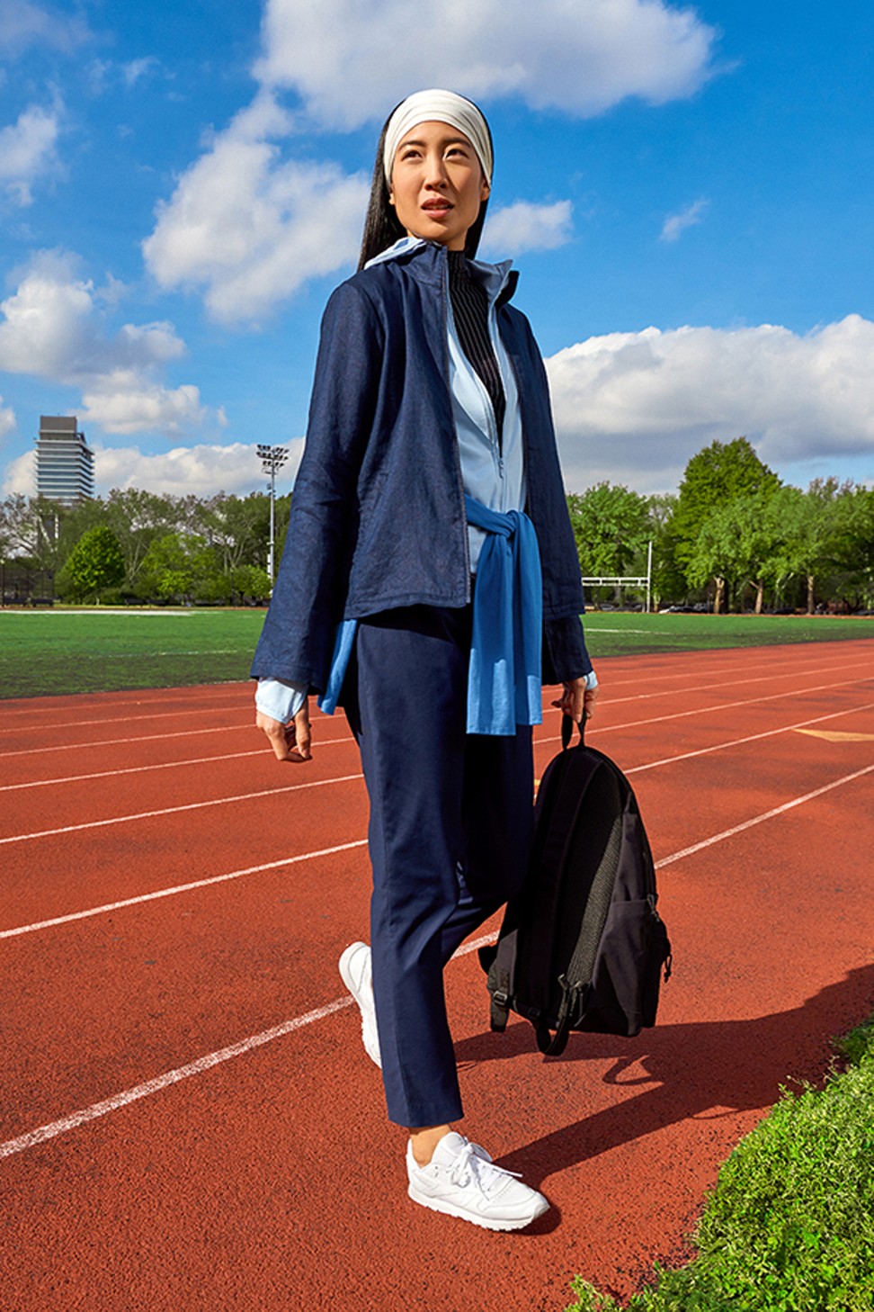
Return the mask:
[[443,967],[519,888],[533,833],[531,728],[465,732],[469,652],[470,606],[384,611],[359,622],[343,687],[371,806],[385,1098],[408,1127],[463,1115]]

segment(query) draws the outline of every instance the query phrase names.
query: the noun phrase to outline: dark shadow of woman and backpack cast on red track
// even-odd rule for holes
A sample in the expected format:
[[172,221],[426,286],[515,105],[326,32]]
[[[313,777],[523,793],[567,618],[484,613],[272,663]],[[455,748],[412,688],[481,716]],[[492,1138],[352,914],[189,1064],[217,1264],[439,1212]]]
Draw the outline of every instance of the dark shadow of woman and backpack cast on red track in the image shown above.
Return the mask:
[[[874,966],[864,966],[802,1006],[752,1021],[656,1025],[634,1039],[574,1034],[561,1057],[544,1061],[612,1057],[603,1081],[641,1092],[533,1140],[502,1157],[501,1165],[522,1172],[537,1187],[556,1172],[664,1126],[768,1107],[780,1097],[781,1085],[822,1080],[829,1065],[826,1039],[845,1033],[871,1012]],[[504,1034],[478,1034],[457,1043],[456,1057],[478,1063],[532,1048],[533,1030],[527,1021],[516,1021]],[[633,1067],[634,1073],[626,1075]],[[588,1078],[580,1071],[580,1080]]]

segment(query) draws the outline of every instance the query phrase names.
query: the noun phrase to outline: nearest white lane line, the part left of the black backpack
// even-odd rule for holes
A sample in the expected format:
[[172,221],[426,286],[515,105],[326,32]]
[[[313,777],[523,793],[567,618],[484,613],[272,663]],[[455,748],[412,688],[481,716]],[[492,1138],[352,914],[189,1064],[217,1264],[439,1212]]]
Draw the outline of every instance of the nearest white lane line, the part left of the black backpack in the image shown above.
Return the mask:
[[[466,956],[468,953],[473,953],[477,947],[482,947],[485,943],[491,943],[494,941],[494,934],[484,934],[482,938],[476,938],[470,943],[465,943],[463,947],[455,953],[455,956]],[[77,1130],[79,1126],[88,1124],[89,1120],[98,1120],[101,1117],[107,1117],[110,1111],[118,1111],[121,1107],[130,1106],[131,1102],[138,1102],[140,1098],[148,1098],[153,1093],[160,1093],[161,1089],[169,1089],[173,1084],[180,1084],[181,1080],[190,1080],[195,1075],[203,1075],[204,1071],[211,1071],[212,1067],[221,1065],[223,1061],[231,1061],[233,1057],[244,1056],[246,1052],[252,1052],[254,1048],[263,1047],[265,1043],[273,1043],[274,1039],[283,1039],[287,1034],[294,1034],[295,1030],[303,1030],[307,1025],[313,1025],[316,1021],[325,1021],[329,1015],[334,1015],[335,1012],[342,1012],[347,1006],[352,1006],[354,998],[346,993],[343,997],[334,998],[333,1002],[326,1002],[325,1006],[317,1006],[312,1012],[305,1012],[303,1015],[295,1015],[291,1021],[283,1021],[282,1025],[274,1025],[269,1030],[262,1030],[261,1034],[252,1034],[248,1039],[240,1039],[238,1043],[231,1043],[227,1048],[219,1048],[218,1052],[207,1052],[206,1056],[198,1057],[195,1061],[189,1061],[186,1065],[177,1067],[174,1071],[166,1071],[164,1075],[156,1076],[153,1080],[145,1080],[143,1084],[134,1085],[132,1089],[124,1089],[122,1093],[113,1094],[111,1098],[104,1098],[101,1102],[93,1102],[90,1107],[81,1107],[79,1111],[71,1111],[69,1115],[62,1117],[60,1120],[52,1120],[47,1126],[39,1126],[37,1130],[30,1130],[28,1134],[18,1135],[17,1139],[7,1139],[5,1143],[0,1144],[0,1158],[12,1157],[14,1153],[24,1152],[26,1148],[35,1148],[37,1144],[43,1144],[48,1139],[55,1139],[58,1135],[67,1134],[69,1130]]]

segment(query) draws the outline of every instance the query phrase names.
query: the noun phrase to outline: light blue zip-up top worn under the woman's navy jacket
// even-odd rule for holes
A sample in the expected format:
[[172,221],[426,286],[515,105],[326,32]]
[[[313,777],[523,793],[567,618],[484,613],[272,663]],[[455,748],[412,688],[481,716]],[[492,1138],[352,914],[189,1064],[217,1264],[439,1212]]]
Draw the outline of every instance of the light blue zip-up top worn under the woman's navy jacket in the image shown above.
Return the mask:
[[[421,237],[401,237],[400,241],[396,241],[388,251],[376,256],[370,264],[381,264],[387,260],[393,260],[423,244]],[[507,260],[493,265],[481,260],[469,260],[468,269],[470,277],[485,287],[489,299],[489,337],[498,361],[498,369],[501,370],[507,408],[503,420],[502,441],[499,442],[491,399],[480,375],[461,349],[452,316],[452,302],[447,290],[447,304],[449,306],[449,391],[459,438],[464,491],[490,510],[501,513],[522,510],[525,502],[525,472],[516,379],[495,323],[495,302],[506,286],[511,261]],[[473,573],[477,569],[484,541],[484,530],[468,525],[470,569]],[[338,643],[335,661],[342,659],[339,655],[341,649],[342,643]],[[284,724],[297,714],[307,698],[307,693],[308,689],[301,684],[291,684],[276,678],[259,678],[256,685],[256,705],[259,711]]]

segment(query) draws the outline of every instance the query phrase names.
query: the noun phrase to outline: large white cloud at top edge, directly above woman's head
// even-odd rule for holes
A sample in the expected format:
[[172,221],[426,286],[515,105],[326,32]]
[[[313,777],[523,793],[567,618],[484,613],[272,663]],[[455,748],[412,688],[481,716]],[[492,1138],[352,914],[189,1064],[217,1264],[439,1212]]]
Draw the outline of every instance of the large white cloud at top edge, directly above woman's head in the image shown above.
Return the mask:
[[337,129],[384,118],[435,76],[474,98],[591,115],[626,96],[692,94],[714,37],[663,0],[431,0],[413,18],[408,0],[267,0],[256,73]]

